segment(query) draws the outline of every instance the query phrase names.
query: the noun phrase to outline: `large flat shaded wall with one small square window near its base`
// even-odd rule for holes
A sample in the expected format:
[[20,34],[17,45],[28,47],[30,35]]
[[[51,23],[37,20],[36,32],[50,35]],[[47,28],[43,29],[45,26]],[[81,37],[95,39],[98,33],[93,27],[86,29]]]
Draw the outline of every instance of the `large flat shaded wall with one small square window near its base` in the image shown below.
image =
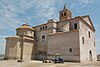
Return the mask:
[[48,35],[48,59],[60,54],[65,61],[80,61],[78,30]]

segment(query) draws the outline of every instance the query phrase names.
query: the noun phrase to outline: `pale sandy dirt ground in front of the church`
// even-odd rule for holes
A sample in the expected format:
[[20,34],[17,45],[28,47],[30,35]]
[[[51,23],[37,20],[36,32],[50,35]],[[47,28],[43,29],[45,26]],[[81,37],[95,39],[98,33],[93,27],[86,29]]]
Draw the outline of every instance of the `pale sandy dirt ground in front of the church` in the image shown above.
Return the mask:
[[0,67],[100,67],[100,61],[91,63],[65,62],[64,64],[42,63],[42,61],[16,62],[0,61]]

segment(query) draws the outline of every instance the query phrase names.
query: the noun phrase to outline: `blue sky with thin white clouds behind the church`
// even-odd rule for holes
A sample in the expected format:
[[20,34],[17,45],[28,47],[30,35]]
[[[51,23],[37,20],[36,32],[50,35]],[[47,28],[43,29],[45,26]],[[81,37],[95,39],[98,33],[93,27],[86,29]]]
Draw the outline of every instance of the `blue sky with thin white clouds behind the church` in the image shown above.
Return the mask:
[[97,54],[100,54],[100,0],[0,0],[0,54],[4,54],[5,38],[14,36],[15,29],[23,23],[31,26],[59,20],[64,4],[73,17],[89,15],[96,29]]

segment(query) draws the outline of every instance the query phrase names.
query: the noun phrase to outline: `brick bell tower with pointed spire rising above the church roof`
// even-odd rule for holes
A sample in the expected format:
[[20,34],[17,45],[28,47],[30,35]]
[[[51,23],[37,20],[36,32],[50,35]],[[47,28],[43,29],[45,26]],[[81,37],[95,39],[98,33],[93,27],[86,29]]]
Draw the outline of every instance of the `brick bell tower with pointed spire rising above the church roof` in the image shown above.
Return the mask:
[[64,5],[63,10],[59,12],[59,15],[60,15],[59,17],[60,21],[66,21],[72,18],[72,13],[70,10],[68,10],[68,8],[66,7],[66,4]]

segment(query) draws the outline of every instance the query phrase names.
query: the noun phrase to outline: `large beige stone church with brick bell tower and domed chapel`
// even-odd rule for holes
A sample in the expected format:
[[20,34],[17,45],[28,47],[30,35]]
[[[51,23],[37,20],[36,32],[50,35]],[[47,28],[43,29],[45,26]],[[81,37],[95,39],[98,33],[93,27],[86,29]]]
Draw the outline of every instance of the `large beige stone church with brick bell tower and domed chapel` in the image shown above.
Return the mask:
[[23,24],[16,36],[6,38],[5,59],[43,60],[60,55],[65,61],[96,61],[95,28],[88,15],[72,18],[64,6],[59,21],[30,27]]

